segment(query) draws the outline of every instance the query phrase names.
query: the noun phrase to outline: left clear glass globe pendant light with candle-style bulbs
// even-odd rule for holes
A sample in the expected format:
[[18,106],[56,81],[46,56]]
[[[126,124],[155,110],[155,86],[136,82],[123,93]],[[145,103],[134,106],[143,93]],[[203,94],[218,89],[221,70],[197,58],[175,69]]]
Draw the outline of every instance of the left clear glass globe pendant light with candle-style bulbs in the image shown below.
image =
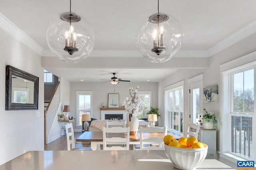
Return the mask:
[[47,29],[50,50],[66,62],[79,62],[90,55],[94,47],[94,32],[89,22],[71,12],[59,14]]

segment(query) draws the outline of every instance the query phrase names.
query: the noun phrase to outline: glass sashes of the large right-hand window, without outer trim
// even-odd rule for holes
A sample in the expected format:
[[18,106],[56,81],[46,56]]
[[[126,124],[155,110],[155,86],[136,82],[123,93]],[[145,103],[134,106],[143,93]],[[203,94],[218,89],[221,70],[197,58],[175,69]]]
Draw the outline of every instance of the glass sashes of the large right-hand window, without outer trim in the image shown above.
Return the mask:
[[254,114],[254,69],[230,74],[230,130],[233,154],[252,159],[252,115]]

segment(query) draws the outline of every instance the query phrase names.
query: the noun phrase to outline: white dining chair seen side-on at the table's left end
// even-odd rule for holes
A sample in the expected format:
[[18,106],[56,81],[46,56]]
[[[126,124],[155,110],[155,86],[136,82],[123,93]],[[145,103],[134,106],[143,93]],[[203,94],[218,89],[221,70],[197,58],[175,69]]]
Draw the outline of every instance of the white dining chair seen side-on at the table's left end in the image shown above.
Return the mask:
[[[90,147],[75,147],[74,129],[72,123],[66,123],[66,136],[67,136],[67,147],[68,150],[92,150]],[[71,145],[71,147],[70,147]]]

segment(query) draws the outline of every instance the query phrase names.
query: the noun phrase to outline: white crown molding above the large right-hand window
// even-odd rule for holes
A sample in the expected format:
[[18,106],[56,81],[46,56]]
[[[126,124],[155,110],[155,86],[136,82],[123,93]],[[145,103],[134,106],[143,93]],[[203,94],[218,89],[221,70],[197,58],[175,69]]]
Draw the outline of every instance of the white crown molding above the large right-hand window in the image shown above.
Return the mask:
[[246,25],[245,27],[236,31],[234,34],[230,35],[228,38],[208,49],[210,56],[230,47],[231,45],[237,43],[238,41],[241,41],[242,39],[254,33],[256,33],[256,21],[250,23],[249,25]]

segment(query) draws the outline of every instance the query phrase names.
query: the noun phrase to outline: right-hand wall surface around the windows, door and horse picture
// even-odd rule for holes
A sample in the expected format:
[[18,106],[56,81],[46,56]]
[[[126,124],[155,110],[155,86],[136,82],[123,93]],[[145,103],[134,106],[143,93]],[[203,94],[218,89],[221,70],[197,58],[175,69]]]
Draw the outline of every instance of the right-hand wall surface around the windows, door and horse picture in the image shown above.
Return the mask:
[[[198,74],[204,74],[204,88],[213,85],[219,85],[219,94],[221,93],[220,89],[220,64],[224,64],[228,61],[232,61],[238,57],[242,57],[248,53],[256,51],[256,34],[251,35],[243,39],[242,41],[228,47],[227,49],[221,51],[220,53],[209,58],[209,67],[207,69],[197,70],[197,69],[186,69],[180,70],[172,76],[165,78],[159,82],[158,88],[158,107],[160,108],[160,113],[164,115],[164,87],[175,84],[181,80],[185,80],[184,86],[184,112],[189,113],[189,104],[188,104],[188,78],[197,76]],[[221,94],[219,96],[222,96]],[[217,131],[217,150],[219,150],[222,137],[220,135],[220,129],[222,129],[222,122],[220,121],[220,98],[219,102],[216,104],[204,104],[203,108],[206,108],[208,111],[217,111],[217,121],[218,121],[218,131]],[[164,116],[160,117],[162,122],[164,122]],[[184,129],[187,129],[188,123],[188,114],[184,117]],[[228,129],[227,129],[228,131]]]

